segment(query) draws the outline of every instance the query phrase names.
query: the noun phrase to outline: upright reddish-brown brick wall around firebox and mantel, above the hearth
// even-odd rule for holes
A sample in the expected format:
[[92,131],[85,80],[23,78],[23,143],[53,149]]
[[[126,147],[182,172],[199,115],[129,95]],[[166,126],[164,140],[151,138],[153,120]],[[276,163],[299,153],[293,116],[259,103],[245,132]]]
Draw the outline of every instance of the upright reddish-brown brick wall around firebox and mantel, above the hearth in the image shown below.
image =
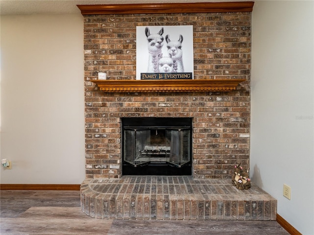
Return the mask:
[[[105,93],[90,82],[135,79],[136,26],[193,25],[194,79],[245,78],[232,92]],[[251,12],[84,16],[86,178],[118,178],[122,117],[193,118],[193,175],[230,178],[249,164]]]

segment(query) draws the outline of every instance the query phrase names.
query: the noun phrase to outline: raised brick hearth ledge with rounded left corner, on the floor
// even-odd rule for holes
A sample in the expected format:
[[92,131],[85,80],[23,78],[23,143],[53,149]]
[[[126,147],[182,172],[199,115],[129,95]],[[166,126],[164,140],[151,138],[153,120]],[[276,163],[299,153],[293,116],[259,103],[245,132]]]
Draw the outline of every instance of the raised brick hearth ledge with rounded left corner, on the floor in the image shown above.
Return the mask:
[[252,184],[192,176],[86,179],[81,207],[99,219],[276,220],[277,200]]

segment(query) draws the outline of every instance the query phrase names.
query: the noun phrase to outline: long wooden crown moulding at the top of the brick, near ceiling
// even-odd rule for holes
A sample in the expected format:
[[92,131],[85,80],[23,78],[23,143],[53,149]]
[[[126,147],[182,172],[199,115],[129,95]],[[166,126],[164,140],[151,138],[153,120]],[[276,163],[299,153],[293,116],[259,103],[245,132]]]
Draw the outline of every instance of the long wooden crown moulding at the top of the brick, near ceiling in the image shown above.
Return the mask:
[[82,15],[251,12],[253,1],[77,5]]

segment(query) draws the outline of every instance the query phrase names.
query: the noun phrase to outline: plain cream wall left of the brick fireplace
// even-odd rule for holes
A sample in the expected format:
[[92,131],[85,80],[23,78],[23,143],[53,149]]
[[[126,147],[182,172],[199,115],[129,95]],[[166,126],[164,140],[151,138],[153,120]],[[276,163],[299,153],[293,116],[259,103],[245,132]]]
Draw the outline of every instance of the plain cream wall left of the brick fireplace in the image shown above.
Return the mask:
[[1,184],[85,178],[83,17],[1,16]]

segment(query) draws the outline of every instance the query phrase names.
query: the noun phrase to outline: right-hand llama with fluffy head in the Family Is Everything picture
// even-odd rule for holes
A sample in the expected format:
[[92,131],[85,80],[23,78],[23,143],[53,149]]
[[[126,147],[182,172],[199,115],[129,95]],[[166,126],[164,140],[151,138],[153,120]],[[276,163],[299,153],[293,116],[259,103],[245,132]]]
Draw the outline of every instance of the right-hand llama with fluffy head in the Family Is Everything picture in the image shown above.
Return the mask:
[[178,41],[171,41],[169,35],[166,35],[168,54],[173,59],[173,70],[174,72],[184,72],[183,61],[182,61],[182,42],[183,36],[180,34]]

